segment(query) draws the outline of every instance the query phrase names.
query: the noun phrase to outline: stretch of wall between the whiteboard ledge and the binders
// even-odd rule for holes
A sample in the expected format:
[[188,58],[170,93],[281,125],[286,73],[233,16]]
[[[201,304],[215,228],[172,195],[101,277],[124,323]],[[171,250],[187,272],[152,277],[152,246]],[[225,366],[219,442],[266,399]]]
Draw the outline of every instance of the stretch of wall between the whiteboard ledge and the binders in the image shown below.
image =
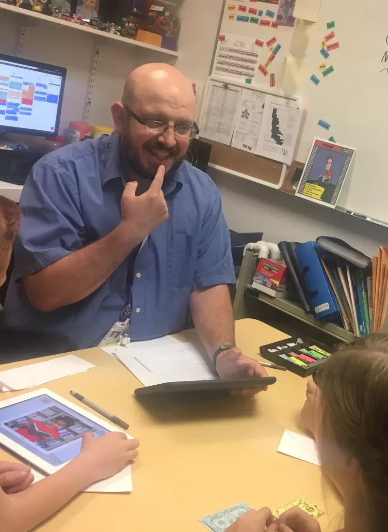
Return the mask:
[[376,254],[377,245],[388,245],[385,227],[224,172],[209,173],[220,190],[230,229],[263,231],[263,239],[276,244],[334,236],[368,256]]

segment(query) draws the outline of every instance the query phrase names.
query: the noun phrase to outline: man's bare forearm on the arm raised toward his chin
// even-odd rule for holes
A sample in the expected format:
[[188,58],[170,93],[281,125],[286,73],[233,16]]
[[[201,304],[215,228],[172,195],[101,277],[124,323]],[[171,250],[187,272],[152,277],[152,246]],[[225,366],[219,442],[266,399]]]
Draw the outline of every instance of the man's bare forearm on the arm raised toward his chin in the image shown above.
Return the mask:
[[77,303],[92,294],[140,243],[119,223],[108,235],[23,279],[32,305],[43,312]]

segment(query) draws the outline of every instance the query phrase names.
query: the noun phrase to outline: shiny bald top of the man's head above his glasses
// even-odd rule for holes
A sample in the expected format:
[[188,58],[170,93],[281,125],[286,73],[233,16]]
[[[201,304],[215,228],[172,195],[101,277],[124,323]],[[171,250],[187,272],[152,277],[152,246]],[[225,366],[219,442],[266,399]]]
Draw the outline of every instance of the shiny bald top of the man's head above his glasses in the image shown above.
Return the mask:
[[131,72],[121,102],[138,107],[139,102],[163,98],[172,106],[183,105],[195,115],[195,96],[191,82],[166,63],[148,63]]

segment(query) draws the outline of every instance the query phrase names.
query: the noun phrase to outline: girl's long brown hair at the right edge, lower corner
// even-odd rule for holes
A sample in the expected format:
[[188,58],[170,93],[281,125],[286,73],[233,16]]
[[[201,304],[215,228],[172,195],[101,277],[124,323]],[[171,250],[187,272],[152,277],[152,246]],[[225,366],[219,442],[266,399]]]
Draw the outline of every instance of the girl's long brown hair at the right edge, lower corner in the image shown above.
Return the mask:
[[319,388],[323,434],[329,434],[360,467],[362,493],[357,493],[352,503],[368,519],[370,532],[384,530],[388,505],[388,337],[371,335],[340,348],[325,363]]

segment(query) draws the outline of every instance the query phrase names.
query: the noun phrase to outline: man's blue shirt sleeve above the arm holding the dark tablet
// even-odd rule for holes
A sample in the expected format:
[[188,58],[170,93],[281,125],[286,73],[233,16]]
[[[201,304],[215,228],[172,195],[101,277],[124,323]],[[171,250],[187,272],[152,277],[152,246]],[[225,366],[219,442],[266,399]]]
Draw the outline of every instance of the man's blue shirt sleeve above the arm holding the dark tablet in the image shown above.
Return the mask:
[[216,186],[210,195],[208,211],[201,228],[201,238],[193,290],[204,286],[235,284],[229,229],[222,213],[221,197]]

